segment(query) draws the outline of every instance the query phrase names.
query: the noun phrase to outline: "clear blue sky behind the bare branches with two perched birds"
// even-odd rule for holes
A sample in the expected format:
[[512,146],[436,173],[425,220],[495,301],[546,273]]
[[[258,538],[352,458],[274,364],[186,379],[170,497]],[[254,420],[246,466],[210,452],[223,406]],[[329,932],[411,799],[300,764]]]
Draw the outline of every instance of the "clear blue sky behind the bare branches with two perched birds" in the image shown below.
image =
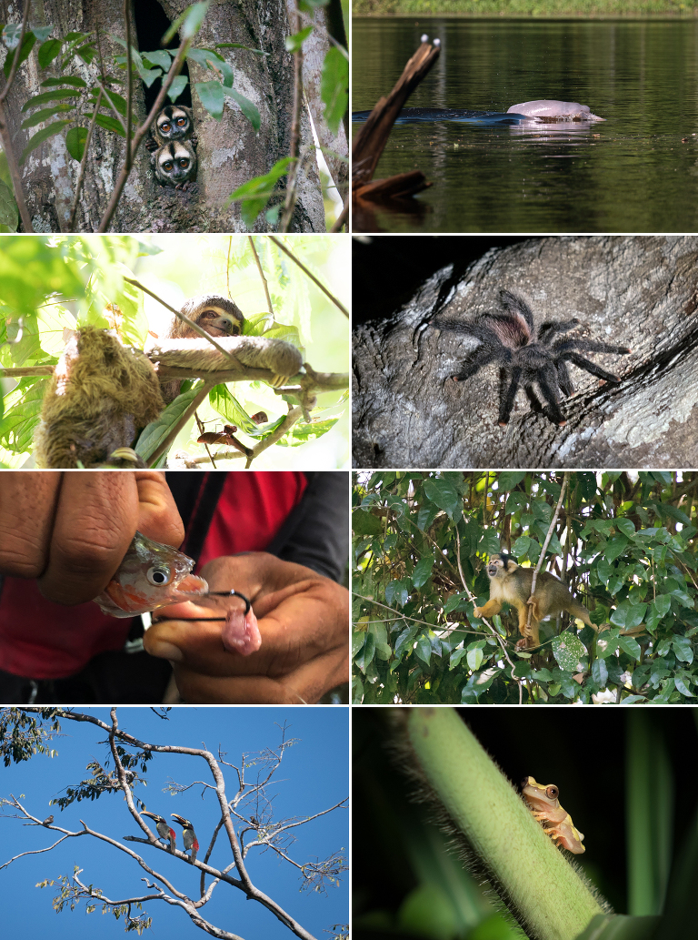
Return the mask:
[[[84,711],[109,721],[108,709],[85,708]],[[227,752],[225,760],[240,765],[242,752],[274,748],[281,740],[277,724],[288,722],[287,736],[300,739],[288,748],[281,767],[272,778],[270,795],[273,797],[274,819],[290,816],[309,816],[333,806],[349,795],[349,709],[336,707],[314,708],[174,708],[169,721],[163,721],[147,708],[121,708],[119,726],[151,744],[181,744],[190,747],[205,745],[217,755],[219,746]],[[276,723],[276,724],[275,724]],[[49,801],[62,795],[66,786],[90,776],[85,772],[89,760],[107,757],[104,733],[93,725],[61,721],[62,737],[54,739],[58,756],[54,759],[42,755],[23,764],[0,767],[0,795],[10,792],[19,797],[23,806],[34,816],[43,819],[54,812],[55,824],[72,831],[85,820],[90,828],[110,836],[141,835],[120,793],[102,795],[96,801],[73,803],[64,812],[49,807]],[[110,765],[111,766],[111,765]],[[237,776],[231,768],[224,768],[226,790],[231,797],[237,790]],[[254,775],[254,768],[248,775]],[[253,780],[254,776],[248,776]],[[160,813],[166,819],[176,812],[194,823],[204,846],[218,822],[219,811],[215,793],[194,786],[185,793],[171,796],[163,791],[168,780],[190,783],[194,780],[212,782],[208,765],[200,758],[183,755],[156,755],[147,770],[147,787],[137,787],[136,795],[147,804],[148,810]],[[5,815],[12,811],[5,807]],[[181,848],[181,829],[173,828]],[[293,830],[297,841],[289,854],[298,862],[323,859],[344,847],[349,851],[349,811],[336,809],[311,823]],[[0,864],[11,856],[30,849],[43,848],[54,841],[47,829],[23,826],[20,820],[0,818]],[[142,852],[147,863],[160,871],[180,890],[198,898],[199,873],[194,873],[185,862],[147,845],[125,843]],[[211,864],[225,867],[232,861],[225,838],[219,836]],[[247,870],[254,884],[277,901],[318,940],[328,938],[325,931],[335,923],[349,920],[348,877],[339,888],[328,886],[328,896],[314,892],[301,892],[297,870],[276,854],[260,853],[253,849],[246,858]],[[82,940],[121,937],[123,924],[111,915],[102,915],[98,909],[85,915],[85,901],[73,912],[56,914],[52,908],[56,887],[36,887],[45,878],[57,879],[70,874],[73,866],[83,869],[80,876],[84,884],[101,887],[112,900],[150,893],[141,880],[144,872],[126,854],[90,838],[70,838],[53,852],[29,855],[13,862],[0,871],[0,898],[3,899],[3,936],[20,940],[26,935],[51,936],[52,940],[70,937]],[[231,872],[233,875],[235,871]],[[163,901],[148,901],[147,913],[153,917],[149,933],[157,937],[203,937],[209,934],[194,927],[182,911]],[[270,912],[255,901],[246,901],[234,887],[218,885],[213,898],[203,908],[202,915],[217,926],[239,934],[245,940],[264,938],[291,938],[287,930]],[[135,935],[135,934],[132,934]]]

